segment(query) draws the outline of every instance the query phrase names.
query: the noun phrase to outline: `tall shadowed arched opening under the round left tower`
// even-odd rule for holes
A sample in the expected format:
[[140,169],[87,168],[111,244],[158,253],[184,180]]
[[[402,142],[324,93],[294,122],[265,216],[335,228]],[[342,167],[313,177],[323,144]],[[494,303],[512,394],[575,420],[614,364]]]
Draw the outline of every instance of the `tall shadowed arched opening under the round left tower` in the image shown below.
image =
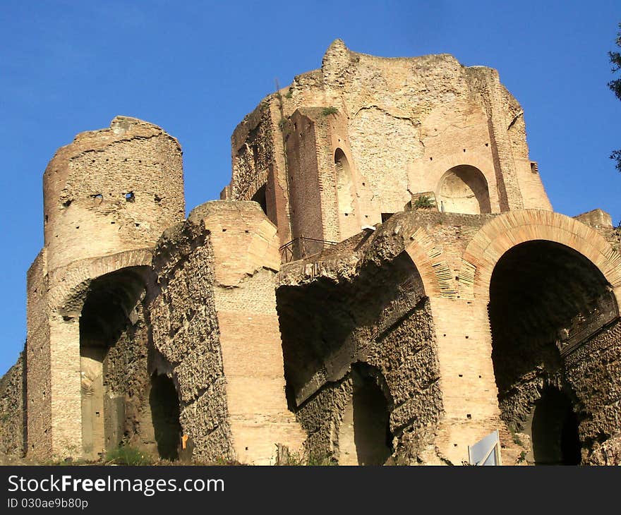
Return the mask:
[[115,382],[125,371],[118,370],[122,363],[109,366],[107,356],[135,320],[149,270],[131,267],[95,279],[80,313],[82,437],[83,455],[88,459],[116,447],[123,436],[125,404]]

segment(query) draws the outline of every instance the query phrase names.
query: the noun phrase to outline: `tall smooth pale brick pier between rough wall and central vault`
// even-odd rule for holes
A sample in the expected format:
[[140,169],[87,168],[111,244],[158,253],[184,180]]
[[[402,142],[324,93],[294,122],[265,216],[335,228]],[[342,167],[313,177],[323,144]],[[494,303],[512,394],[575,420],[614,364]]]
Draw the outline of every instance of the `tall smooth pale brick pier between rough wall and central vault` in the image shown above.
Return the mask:
[[297,452],[303,432],[287,409],[276,313],[276,227],[255,202],[205,202],[188,220],[210,231],[213,294],[236,459],[273,464],[276,445]]

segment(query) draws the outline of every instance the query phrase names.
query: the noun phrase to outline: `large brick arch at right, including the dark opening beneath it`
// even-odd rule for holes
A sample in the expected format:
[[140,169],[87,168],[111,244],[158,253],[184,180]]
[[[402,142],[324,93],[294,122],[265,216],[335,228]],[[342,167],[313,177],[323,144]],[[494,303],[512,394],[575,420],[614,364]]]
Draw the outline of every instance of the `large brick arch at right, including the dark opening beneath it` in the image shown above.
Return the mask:
[[466,248],[460,293],[488,305],[501,418],[531,436],[531,463],[592,447],[597,380],[568,363],[618,323],[619,260],[589,226],[539,210],[493,219]]

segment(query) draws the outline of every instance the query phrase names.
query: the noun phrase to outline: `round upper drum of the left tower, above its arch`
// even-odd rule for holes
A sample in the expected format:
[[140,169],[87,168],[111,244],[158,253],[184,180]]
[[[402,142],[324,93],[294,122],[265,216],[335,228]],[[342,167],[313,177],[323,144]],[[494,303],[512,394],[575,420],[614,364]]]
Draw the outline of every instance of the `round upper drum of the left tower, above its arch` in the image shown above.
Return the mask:
[[151,123],[117,116],[80,133],[43,176],[48,269],[155,246],[185,217],[181,147]]

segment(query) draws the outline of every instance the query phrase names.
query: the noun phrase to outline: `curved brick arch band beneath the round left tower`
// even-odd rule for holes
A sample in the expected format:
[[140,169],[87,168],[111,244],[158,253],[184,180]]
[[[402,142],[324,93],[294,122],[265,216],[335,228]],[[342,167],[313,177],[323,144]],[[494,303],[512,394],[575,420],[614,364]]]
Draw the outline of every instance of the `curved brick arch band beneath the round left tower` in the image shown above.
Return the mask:
[[116,272],[123,268],[151,266],[153,252],[151,248],[126,250],[116,254],[80,260],[64,267],[62,271],[54,270],[50,277],[48,306],[51,313],[79,313],[82,309],[83,293],[93,279]]

